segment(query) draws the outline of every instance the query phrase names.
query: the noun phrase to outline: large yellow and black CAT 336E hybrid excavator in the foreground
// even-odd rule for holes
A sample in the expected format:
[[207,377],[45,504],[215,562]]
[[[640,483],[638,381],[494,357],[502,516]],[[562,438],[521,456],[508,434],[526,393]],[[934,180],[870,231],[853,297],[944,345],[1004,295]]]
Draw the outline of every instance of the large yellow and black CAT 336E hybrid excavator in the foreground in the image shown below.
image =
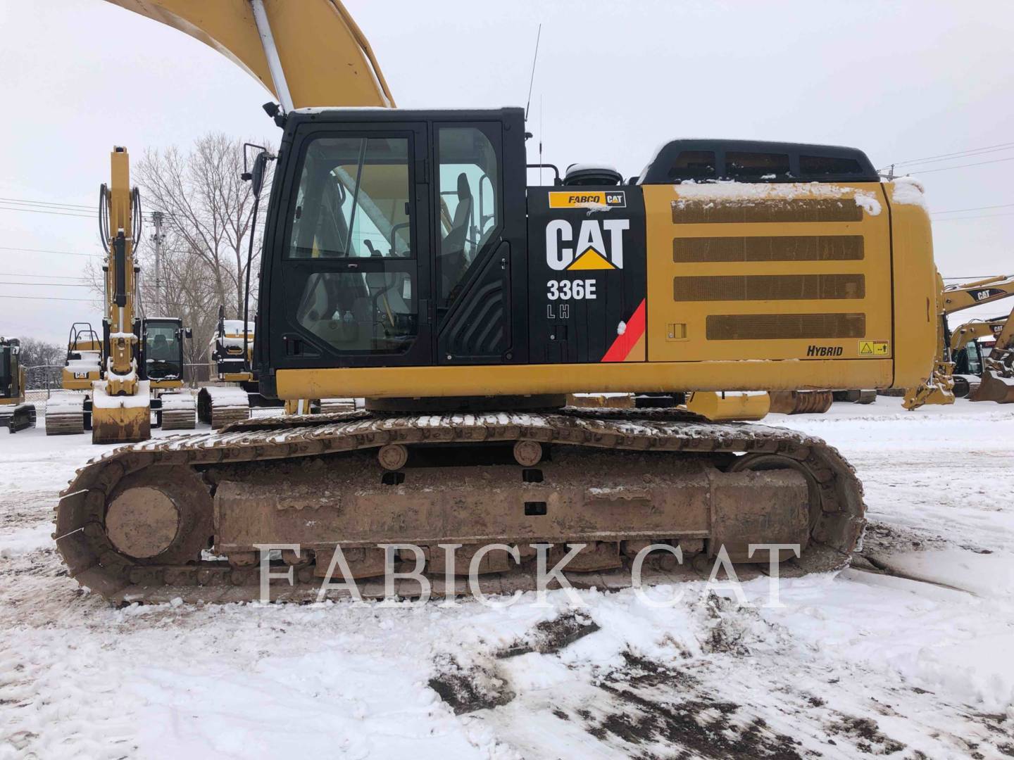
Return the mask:
[[634,179],[582,167],[528,185],[521,108],[390,107],[337,0],[115,1],[280,100],[266,106],[280,149],[248,172],[260,202],[274,164],[260,390],[367,405],[79,470],[55,537],[80,584],[121,601],[257,598],[265,544],[285,544],[288,598],[336,561],[368,579],[416,559],[443,578],[456,556],[508,592],[563,558],[601,586],[651,544],[797,572],[849,561],[862,488],[823,441],[563,404],[924,381],[936,270],[911,187],[856,149],[730,140],[668,142]]

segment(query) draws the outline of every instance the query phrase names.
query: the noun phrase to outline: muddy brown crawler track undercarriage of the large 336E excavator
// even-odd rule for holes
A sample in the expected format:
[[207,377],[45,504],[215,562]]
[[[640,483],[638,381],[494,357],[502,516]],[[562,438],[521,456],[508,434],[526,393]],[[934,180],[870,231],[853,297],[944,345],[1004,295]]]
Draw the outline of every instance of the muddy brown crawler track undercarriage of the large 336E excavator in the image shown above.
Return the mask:
[[[276,574],[292,568],[272,598],[316,598],[338,546],[363,596],[384,595],[386,566],[417,561],[440,596],[476,592],[469,567],[482,593],[535,588],[540,544],[551,563],[583,544],[565,571],[579,587],[630,585],[635,557],[657,544],[686,562],[724,550],[765,565],[750,544],[785,544],[798,547],[798,558],[779,550],[794,572],[831,571],[863,513],[848,462],[793,431],[670,409],[358,410],[105,454],[64,491],[55,536],[70,575],[116,602],[258,599],[266,544],[286,544]],[[648,554],[645,583],[668,580],[675,553]]]

